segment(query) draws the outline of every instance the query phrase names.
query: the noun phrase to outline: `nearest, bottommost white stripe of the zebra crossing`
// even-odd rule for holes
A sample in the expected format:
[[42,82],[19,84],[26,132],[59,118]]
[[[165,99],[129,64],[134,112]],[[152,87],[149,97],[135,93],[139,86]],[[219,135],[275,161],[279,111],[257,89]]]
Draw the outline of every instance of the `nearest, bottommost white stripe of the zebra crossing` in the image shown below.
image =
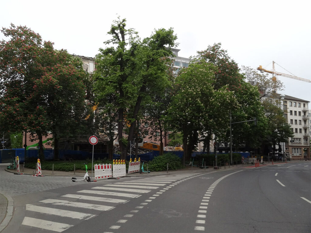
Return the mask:
[[65,223],[52,222],[52,221],[31,218],[31,217],[24,217],[24,220],[21,224],[26,225],[26,226],[33,226],[33,227],[37,227],[37,228],[41,228],[41,229],[45,229],[49,231],[57,231],[57,232],[65,231],[68,228],[73,226],[73,225],[69,225]]

